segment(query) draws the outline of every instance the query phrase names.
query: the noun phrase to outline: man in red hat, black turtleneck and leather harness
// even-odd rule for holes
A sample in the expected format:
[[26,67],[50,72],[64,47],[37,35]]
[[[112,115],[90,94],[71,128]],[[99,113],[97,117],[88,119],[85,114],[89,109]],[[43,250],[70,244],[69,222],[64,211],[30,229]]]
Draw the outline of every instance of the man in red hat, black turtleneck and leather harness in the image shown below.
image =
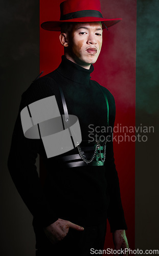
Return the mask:
[[[99,0],[67,0],[60,7],[60,21],[46,22],[41,27],[53,31],[61,29],[59,39],[64,56],[55,71],[35,79],[22,95],[8,167],[20,196],[34,217],[36,255],[84,256],[92,254],[93,250],[102,250],[107,218],[115,249],[124,249],[128,247],[127,226],[112,146],[115,101],[107,89],[90,80],[94,70],[92,64],[102,47],[103,28],[120,19],[104,19]],[[48,157],[45,136],[42,137],[40,124],[34,123],[32,107],[40,102],[39,108],[42,104],[41,111],[47,109],[48,115],[48,102],[54,96],[59,112],[68,116],[63,119],[63,127],[70,131],[72,141],[71,126],[66,124],[70,122],[68,113],[78,117],[82,141],[63,154]],[[28,119],[23,117],[26,111]],[[55,108],[51,112],[54,113]],[[38,115],[42,116],[41,112]],[[49,118],[44,119],[48,121]],[[29,129],[34,128],[32,139],[27,137],[24,123]],[[47,125],[44,126],[46,134]],[[92,133],[90,140],[90,127],[105,127],[105,132],[100,131],[99,137]],[[58,125],[56,128],[56,136],[66,130],[58,131]],[[39,132],[39,139],[34,137],[36,132]],[[105,139],[100,140],[103,135]],[[61,135],[58,142],[50,140],[48,143],[56,150],[64,140],[65,136]],[[35,167],[37,154],[46,172],[43,186]]]

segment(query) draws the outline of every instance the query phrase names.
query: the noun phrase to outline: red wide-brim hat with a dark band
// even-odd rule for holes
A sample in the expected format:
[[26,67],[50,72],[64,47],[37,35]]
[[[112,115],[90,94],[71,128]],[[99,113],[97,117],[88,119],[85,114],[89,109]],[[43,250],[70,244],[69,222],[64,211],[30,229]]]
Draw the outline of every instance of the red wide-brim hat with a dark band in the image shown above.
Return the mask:
[[60,31],[60,25],[68,22],[102,22],[102,28],[117,24],[122,18],[103,18],[100,0],[66,0],[60,4],[60,20],[43,22],[41,28]]

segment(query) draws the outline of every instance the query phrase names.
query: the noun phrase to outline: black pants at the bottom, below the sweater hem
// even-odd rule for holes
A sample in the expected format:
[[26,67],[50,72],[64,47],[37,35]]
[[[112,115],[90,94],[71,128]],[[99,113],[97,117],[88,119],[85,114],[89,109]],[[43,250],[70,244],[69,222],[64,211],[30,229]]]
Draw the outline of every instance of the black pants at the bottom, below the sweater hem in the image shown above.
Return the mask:
[[84,227],[83,231],[69,229],[66,237],[53,245],[42,229],[34,228],[36,234],[36,256],[88,256],[90,249],[102,250],[105,241],[106,220],[98,225]]

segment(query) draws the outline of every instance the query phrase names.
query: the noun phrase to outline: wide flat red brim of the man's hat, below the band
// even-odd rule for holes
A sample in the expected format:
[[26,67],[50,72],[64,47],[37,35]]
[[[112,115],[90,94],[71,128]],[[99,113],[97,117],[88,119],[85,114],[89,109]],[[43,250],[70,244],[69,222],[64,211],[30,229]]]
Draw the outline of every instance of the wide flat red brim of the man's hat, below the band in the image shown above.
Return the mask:
[[[61,31],[60,25],[62,23],[69,23],[69,22],[103,22],[105,26],[111,27],[118,22],[120,22],[122,18],[113,18],[113,19],[105,19],[105,18],[98,18],[98,17],[81,17],[81,18],[73,18],[67,20],[58,20],[58,21],[50,21],[50,22],[43,22],[41,24],[41,28],[49,31]],[[105,29],[104,24],[102,24],[102,28]]]

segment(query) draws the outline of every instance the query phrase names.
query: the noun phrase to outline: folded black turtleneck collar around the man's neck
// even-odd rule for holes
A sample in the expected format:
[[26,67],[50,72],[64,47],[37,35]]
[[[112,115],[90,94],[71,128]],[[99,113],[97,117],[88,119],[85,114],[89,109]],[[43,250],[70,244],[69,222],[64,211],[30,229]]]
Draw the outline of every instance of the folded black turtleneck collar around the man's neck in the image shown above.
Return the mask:
[[56,71],[74,82],[86,84],[90,80],[90,73],[94,71],[94,67],[91,65],[90,69],[84,69],[62,55],[62,61]]

